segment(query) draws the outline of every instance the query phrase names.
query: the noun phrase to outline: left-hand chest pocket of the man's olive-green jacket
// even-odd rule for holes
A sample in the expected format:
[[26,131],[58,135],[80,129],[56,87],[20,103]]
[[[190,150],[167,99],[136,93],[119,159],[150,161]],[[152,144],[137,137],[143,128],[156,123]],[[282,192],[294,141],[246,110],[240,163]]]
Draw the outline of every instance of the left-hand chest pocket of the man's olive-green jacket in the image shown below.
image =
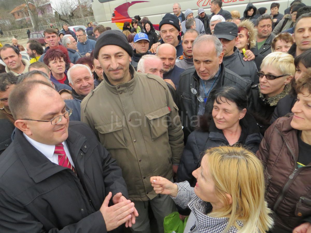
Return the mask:
[[98,131],[101,144],[107,150],[128,148],[124,140],[121,121],[95,124],[95,129]]

